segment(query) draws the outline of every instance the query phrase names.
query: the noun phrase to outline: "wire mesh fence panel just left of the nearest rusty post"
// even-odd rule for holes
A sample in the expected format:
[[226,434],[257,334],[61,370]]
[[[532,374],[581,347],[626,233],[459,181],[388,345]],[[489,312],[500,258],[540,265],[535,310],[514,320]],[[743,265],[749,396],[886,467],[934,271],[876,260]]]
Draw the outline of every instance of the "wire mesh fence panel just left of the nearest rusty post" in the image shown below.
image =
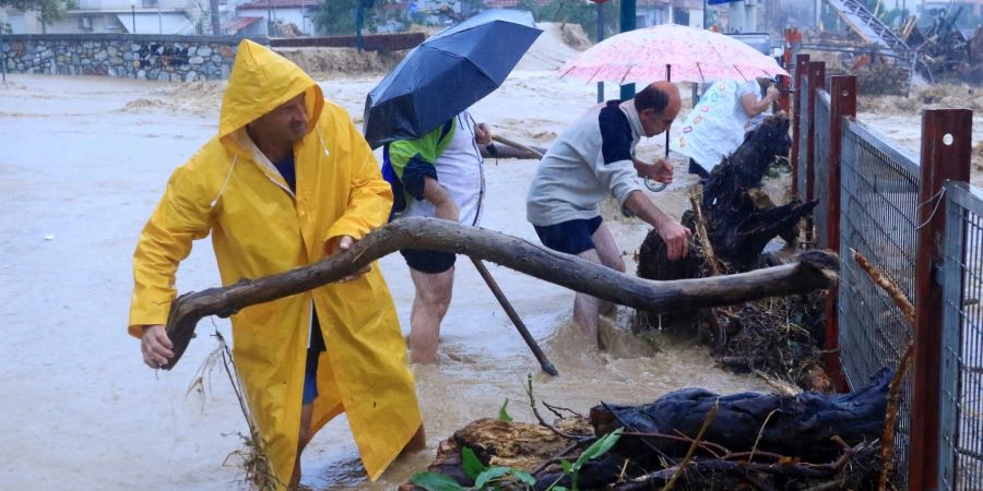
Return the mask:
[[[855,249],[915,301],[914,270],[921,172],[917,159],[887,136],[846,121],[840,159],[840,363],[851,386],[897,368],[913,338],[901,310],[850,253]],[[895,455],[896,486],[907,489],[911,372],[902,384]]]

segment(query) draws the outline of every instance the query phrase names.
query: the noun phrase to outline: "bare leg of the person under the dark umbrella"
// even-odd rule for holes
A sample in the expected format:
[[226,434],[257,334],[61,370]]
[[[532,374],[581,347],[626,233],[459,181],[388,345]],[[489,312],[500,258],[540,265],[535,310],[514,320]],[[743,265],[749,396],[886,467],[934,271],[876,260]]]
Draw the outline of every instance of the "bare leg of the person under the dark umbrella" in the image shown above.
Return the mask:
[[454,268],[429,274],[411,267],[410,276],[416,287],[410,311],[410,361],[434,363],[437,361],[440,323],[447,314],[454,286]]

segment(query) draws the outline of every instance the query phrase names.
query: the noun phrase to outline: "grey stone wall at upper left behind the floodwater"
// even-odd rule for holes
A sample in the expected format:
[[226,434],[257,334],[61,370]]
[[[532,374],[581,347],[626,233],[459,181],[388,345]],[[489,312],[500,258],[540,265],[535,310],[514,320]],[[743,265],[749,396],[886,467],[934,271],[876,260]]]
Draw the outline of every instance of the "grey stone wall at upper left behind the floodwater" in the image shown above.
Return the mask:
[[[108,75],[192,82],[228,79],[236,46],[232,36],[131,34],[4,35],[0,60],[10,73]],[[269,44],[267,39],[253,39]]]

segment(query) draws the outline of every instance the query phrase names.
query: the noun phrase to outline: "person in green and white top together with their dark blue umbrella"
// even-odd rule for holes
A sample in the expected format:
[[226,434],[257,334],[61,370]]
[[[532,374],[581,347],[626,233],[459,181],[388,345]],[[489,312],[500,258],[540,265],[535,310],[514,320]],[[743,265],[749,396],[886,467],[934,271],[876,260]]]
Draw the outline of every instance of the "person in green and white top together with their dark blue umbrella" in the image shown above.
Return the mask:
[[[414,48],[369,92],[365,136],[374,148],[388,144],[382,176],[393,188],[395,218],[477,224],[484,194],[478,145],[492,143],[492,133],[467,108],[501,85],[541,33],[530,12],[487,10]],[[410,358],[430,363],[450,304],[454,254],[401,252],[416,286]]]

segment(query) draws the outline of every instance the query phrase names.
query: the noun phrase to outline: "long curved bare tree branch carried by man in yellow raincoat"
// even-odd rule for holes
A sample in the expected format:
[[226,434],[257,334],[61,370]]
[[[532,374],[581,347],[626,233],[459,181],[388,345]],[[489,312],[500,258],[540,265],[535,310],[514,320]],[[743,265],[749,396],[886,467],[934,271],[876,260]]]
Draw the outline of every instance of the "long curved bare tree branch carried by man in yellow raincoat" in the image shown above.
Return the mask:
[[175,356],[163,368],[169,370],[177,363],[198,321],[204,316],[227,318],[245,307],[336,282],[405,248],[454,252],[492,261],[575,291],[653,312],[726,306],[830,288],[837,283],[839,262],[836,254],[809,251],[795,264],[739,275],[651,282],[505,233],[449,220],[412,217],[372,230],[352,249],[318,263],[178,297],[170,306],[166,326]]

